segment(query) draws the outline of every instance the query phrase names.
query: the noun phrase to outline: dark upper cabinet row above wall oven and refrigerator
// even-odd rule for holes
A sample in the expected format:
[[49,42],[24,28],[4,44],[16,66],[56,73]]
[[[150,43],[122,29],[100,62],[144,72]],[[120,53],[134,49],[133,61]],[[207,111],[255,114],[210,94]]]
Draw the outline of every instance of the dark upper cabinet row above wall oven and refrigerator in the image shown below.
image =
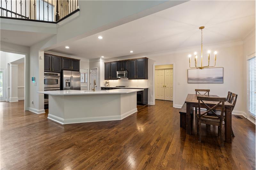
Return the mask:
[[61,70],[79,71],[80,61],[73,58],[44,54],[44,71],[61,72]]

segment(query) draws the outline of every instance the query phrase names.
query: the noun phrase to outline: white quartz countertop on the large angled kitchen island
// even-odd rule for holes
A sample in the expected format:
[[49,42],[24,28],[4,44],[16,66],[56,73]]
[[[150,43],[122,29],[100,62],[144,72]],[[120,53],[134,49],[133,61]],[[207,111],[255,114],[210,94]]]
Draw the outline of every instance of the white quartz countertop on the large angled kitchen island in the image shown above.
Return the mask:
[[82,94],[124,94],[142,91],[142,89],[113,89],[113,90],[96,90],[95,92],[89,90],[59,90],[59,91],[44,91],[49,95],[82,95]]

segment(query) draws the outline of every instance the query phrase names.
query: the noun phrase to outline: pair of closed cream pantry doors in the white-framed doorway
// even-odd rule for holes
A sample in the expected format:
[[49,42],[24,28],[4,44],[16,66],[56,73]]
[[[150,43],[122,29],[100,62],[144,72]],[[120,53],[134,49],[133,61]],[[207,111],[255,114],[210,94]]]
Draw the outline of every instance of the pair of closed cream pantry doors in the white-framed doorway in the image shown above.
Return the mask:
[[173,70],[156,69],[156,99],[173,100]]

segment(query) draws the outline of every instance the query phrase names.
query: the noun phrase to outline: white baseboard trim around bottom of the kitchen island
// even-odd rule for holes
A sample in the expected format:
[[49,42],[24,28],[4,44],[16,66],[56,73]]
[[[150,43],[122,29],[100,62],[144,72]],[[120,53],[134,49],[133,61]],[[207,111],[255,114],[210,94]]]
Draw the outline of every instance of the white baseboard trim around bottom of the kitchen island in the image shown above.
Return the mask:
[[58,116],[54,116],[48,114],[48,119],[60,123],[60,124],[72,124],[72,123],[86,123],[86,122],[102,122],[102,121],[115,121],[115,120],[122,120],[127,116],[132,115],[133,113],[137,112],[137,108],[134,108],[122,115],[116,116],[100,116],[100,117],[85,117],[85,118],[73,118],[73,119],[63,119]]

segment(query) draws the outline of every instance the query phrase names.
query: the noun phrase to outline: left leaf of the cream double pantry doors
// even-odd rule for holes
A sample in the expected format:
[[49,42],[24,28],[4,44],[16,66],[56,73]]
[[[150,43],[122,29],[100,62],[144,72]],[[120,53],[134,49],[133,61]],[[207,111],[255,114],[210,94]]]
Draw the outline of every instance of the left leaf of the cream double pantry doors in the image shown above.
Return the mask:
[[156,99],[164,100],[164,69],[156,70]]

